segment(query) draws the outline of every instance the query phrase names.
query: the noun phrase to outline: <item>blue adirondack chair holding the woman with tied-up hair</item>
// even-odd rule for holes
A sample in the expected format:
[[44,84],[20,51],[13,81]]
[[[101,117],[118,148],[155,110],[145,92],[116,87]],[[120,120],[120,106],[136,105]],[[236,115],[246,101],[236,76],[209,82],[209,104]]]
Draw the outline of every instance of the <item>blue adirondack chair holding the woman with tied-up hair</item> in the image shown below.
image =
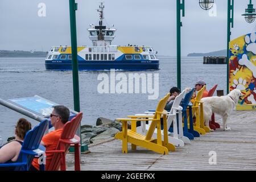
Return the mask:
[[[15,167],[15,171],[28,171],[31,166],[32,160],[36,155],[42,155],[46,148],[40,146],[40,142],[48,127],[47,119],[44,119],[35,126],[34,129],[27,132],[22,148],[19,152],[18,159],[15,163],[0,164],[1,167]],[[40,165],[44,169],[44,164]]]

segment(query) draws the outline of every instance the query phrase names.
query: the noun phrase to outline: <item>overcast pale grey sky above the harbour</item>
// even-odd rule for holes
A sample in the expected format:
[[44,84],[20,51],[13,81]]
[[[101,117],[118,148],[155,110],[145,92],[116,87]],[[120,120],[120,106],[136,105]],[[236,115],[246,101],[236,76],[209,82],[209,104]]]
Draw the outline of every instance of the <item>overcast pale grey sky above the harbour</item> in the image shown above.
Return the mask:
[[[46,4],[46,17],[38,4]],[[68,0],[0,0],[0,49],[48,51],[70,45]],[[91,46],[86,28],[98,22],[100,1],[77,0],[77,44]],[[105,22],[118,29],[112,44],[154,46],[159,55],[176,55],[175,0],[105,0]],[[185,0],[181,55],[226,48],[227,1],[215,0],[217,16],[210,17],[198,0]],[[255,31],[244,13],[249,0],[235,0],[232,39]],[[256,1],[253,0],[253,3]],[[255,6],[254,6],[255,7]]]

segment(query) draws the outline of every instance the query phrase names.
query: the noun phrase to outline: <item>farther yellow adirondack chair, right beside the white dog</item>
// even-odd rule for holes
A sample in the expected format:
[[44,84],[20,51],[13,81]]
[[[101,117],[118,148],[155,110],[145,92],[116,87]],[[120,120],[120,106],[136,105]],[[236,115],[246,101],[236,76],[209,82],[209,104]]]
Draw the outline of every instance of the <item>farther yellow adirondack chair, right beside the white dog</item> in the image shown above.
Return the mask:
[[[210,128],[204,125],[204,110],[203,110],[203,102],[201,102],[201,98],[203,97],[203,92],[205,89],[205,85],[199,92],[193,102],[192,106],[192,115],[196,115],[196,123],[194,123],[194,130],[200,134],[205,134],[210,132]],[[200,109],[199,109],[200,107]],[[200,113],[199,113],[200,110]],[[188,118],[189,122],[189,118]]]

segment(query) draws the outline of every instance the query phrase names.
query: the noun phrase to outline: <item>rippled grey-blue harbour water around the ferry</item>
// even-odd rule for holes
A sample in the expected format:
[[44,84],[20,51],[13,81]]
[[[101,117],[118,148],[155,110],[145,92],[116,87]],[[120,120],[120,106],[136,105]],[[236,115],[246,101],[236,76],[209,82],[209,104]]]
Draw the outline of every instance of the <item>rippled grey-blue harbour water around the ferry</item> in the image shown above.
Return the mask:
[[[109,71],[80,71],[80,109],[84,113],[82,124],[96,125],[98,117],[109,119],[126,117],[126,115],[143,113],[155,109],[161,97],[176,86],[176,57],[159,56],[158,71],[126,72],[159,74],[159,97],[148,100],[148,93],[99,93],[97,90],[101,73],[110,76]],[[217,90],[226,93],[226,65],[203,64],[203,57],[181,57],[181,89],[193,87],[195,82],[203,79],[207,89],[218,84]],[[148,78],[148,77],[147,77]],[[116,81],[116,83],[119,81]],[[129,85],[127,84],[127,87]],[[127,88],[129,89],[129,88]],[[46,71],[42,58],[0,58],[0,98],[32,97],[38,95],[57,104],[73,109],[72,71]],[[19,118],[25,117],[0,105],[0,135],[3,140],[14,136],[14,126]],[[31,118],[28,121],[35,126],[38,122]]]

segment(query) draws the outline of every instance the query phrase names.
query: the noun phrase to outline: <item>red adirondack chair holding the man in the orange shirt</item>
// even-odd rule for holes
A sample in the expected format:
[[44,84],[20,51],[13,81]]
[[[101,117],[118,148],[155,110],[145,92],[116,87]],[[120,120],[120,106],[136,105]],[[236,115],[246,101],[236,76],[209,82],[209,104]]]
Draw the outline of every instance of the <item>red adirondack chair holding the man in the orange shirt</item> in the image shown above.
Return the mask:
[[75,133],[80,126],[81,119],[82,113],[78,113],[71,121],[65,123],[56,149],[46,151],[46,154],[53,154],[51,162],[46,164],[47,171],[57,171],[59,168],[61,171],[66,170],[65,155],[71,145],[75,147],[75,171],[80,171],[80,137]]

